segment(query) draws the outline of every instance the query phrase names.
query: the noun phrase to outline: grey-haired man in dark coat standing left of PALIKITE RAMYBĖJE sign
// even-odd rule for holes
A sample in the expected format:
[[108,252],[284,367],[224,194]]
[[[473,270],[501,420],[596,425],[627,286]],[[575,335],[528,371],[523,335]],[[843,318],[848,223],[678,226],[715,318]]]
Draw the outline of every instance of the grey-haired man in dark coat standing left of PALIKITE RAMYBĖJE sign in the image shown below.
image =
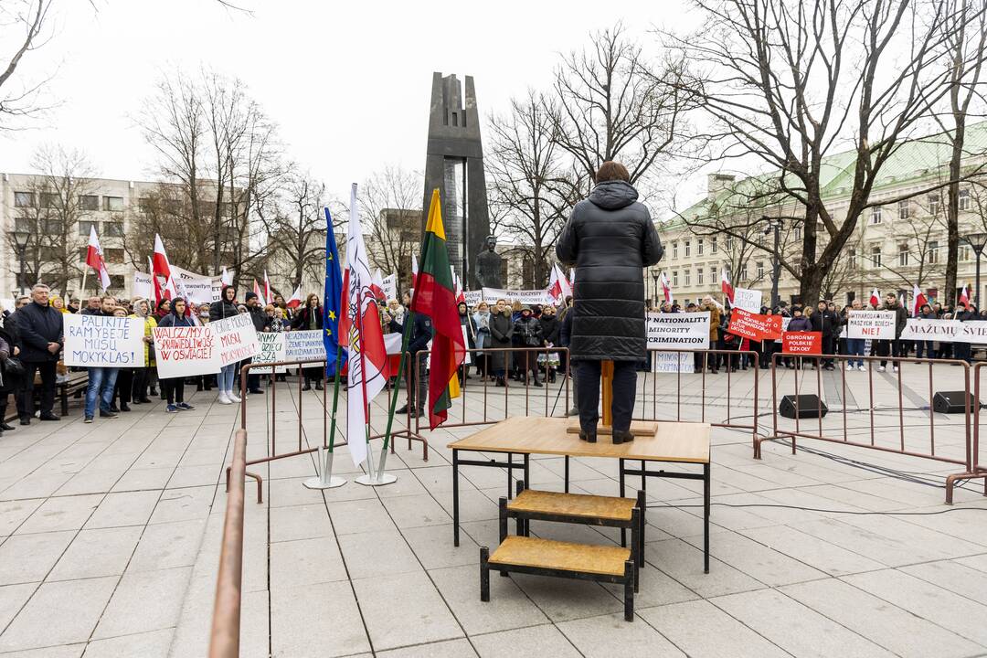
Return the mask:
[[31,299],[31,304],[14,314],[26,369],[22,425],[30,425],[35,415],[36,371],[41,374],[41,420],[61,420],[51,409],[55,403],[55,366],[64,343],[62,314],[48,306],[48,287],[43,283],[31,289]]

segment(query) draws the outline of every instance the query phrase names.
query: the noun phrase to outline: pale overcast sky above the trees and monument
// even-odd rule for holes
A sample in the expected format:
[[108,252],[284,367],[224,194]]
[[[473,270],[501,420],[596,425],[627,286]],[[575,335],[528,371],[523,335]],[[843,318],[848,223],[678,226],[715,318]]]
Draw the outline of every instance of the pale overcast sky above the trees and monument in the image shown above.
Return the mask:
[[345,197],[349,183],[386,163],[423,169],[432,71],[473,75],[486,118],[528,87],[548,87],[559,53],[581,48],[591,31],[623,20],[649,43],[646,32],[662,21],[692,22],[679,0],[504,1],[482,11],[464,2],[240,0],[251,15],[211,0],[93,1],[96,10],[56,1],[51,41],[19,72],[55,71],[48,91],[60,105],[35,128],[0,136],[0,170],[30,172],[38,145],[59,143],[86,151],[104,178],[154,179],[154,154],[132,117],[162,71],[204,64],[243,79],[289,157]]

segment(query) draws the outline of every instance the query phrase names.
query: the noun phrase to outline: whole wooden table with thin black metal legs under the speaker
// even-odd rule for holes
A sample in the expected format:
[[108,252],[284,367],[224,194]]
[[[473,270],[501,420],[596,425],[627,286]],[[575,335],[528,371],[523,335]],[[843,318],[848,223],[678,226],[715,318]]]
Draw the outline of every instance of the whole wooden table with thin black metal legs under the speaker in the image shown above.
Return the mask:
[[[607,437],[596,443],[580,441],[569,434],[568,418],[518,416],[507,418],[449,444],[452,449],[452,524],[453,543],[459,546],[459,467],[480,466],[507,469],[507,495],[511,495],[510,479],[514,470],[524,473],[526,486],[531,455],[561,455],[566,458],[566,491],[569,491],[569,457],[604,457],[620,463],[620,495],[624,497],[627,475],[641,475],[642,489],[647,477],[675,477],[703,480],[704,569],[710,571],[710,424],[704,422],[658,422],[652,437],[637,437],[629,443],[614,445]],[[500,453],[507,461],[461,459],[459,453]],[[514,463],[514,455],[523,459]],[[641,462],[640,469],[630,469],[627,462]],[[678,471],[649,471],[647,462],[671,462],[702,465],[703,473]]]

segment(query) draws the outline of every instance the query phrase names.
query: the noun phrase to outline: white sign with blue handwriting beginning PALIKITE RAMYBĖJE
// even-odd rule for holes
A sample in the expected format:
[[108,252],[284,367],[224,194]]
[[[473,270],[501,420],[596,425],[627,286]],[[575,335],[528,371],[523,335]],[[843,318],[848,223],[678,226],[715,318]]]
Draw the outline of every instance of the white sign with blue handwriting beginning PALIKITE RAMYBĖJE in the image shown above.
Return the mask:
[[65,365],[133,368],[144,365],[144,321],[139,318],[62,315]]

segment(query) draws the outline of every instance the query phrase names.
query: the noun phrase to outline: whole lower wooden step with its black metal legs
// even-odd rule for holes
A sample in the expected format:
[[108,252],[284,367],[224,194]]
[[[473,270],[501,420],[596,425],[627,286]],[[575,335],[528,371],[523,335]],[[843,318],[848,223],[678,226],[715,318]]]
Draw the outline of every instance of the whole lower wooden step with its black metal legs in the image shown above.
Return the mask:
[[[637,510],[635,510],[637,512]],[[637,514],[635,514],[637,516]],[[634,621],[637,552],[620,547],[571,544],[533,537],[507,537],[490,553],[480,548],[480,600],[491,600],[491,569],[624,585],[624,619]]]

